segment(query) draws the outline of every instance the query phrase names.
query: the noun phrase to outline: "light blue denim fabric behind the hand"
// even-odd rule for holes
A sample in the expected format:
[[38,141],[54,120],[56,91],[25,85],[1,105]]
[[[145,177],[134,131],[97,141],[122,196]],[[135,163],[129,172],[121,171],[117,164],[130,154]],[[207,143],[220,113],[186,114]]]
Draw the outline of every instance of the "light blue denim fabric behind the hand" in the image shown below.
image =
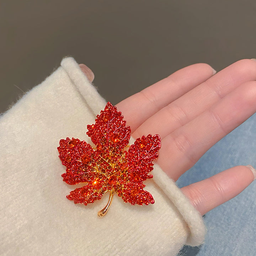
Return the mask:
[[[209,149],[182,175],[179,187],[236,165],[256,168],[256,114]],[[256,256],[256,180],[237,197],[204,215],[207,235],[201,247],[184,246],[183,256]]]

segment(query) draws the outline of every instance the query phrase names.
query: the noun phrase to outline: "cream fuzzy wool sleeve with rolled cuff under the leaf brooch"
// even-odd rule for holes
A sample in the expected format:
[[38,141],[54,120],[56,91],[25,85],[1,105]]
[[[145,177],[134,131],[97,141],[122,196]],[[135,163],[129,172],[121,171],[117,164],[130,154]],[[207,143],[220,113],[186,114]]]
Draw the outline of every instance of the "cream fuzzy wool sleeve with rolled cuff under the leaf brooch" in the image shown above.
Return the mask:
[[157,164],[154,178],[144,182],[154,204],[132,206],[114,194],[108,213],[99,218],[108,193],[87,206],[66,199],[75,186],[62,180],[59,140],[92,144],[86,126],[105,105],[67,57],[1,116],[1,255],[172,256],[184,244],[202,244],[200,214]]

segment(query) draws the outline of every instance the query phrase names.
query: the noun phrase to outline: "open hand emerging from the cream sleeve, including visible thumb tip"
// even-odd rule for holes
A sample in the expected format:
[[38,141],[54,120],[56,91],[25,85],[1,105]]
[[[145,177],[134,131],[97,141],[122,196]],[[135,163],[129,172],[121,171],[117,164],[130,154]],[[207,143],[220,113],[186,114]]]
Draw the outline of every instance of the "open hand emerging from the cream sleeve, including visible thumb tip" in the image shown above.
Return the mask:
[[[92,71],[84,64],[80,68],[92,82]],[[157,162],[176,181],[211,146],[256,112],[255,80],[255,60],[240,60],[217,74],[208,64],[199,63],[116,106],[133,138],[160,135]],[[203,215],[238,195],[255,176],[251,166],[235,166],[181,190]]]

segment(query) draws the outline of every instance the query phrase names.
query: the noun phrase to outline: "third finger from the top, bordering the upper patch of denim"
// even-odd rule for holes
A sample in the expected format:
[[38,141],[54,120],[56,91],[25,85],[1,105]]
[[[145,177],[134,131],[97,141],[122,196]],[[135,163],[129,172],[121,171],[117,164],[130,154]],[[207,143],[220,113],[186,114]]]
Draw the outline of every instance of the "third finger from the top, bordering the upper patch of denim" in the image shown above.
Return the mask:
[[159,165],[177,180],[211,146],[255,112],[256,81],[250,81],[240,85],[185,126],[167,135],[159,151]]

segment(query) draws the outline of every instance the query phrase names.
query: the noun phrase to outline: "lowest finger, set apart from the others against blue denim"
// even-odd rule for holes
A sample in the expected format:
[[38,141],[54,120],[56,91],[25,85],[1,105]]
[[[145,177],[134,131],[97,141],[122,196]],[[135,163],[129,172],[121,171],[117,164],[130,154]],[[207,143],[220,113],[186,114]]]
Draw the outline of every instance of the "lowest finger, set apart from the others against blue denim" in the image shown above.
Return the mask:
[[252,166],[235,166],[181,190],[203,215],[241,193],[255,175]]

